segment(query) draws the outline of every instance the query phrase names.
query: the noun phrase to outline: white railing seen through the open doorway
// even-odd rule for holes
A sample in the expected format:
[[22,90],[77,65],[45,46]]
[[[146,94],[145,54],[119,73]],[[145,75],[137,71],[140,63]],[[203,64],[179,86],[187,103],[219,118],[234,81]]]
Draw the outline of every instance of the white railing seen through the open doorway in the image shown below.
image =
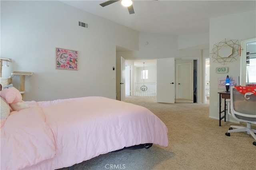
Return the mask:
[[[143,89],[143,85],[146,87]],[[141,90],[142,87],[142,91]],[[135,83],[134,91],[131,95],[133,96],[156,96],[156,83]]]

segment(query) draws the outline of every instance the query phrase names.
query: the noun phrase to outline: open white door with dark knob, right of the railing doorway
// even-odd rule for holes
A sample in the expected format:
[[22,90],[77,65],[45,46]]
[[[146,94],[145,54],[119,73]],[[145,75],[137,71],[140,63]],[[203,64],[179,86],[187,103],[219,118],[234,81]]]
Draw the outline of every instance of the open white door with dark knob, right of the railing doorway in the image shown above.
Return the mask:
[[175,99],[175,69],[174,58],[157,59],[156,101],[159,103],[174,103]]

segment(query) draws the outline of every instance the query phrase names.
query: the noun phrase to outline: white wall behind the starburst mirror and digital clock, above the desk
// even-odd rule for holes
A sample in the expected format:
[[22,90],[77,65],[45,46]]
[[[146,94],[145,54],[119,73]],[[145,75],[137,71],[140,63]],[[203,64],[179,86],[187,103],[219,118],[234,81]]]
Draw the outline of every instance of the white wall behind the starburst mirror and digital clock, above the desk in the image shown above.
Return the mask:
[[[227,16],[221,16],[210,19],[210,48],[225,38],[228,40],[246,40],[256,37],[256,11],[242,12]],[[229,68],[226,74],[217,74],[216,67],[224,65],[213,62],[210,57],[210,117],[219,119],[219,107],[215,107],[214,103],[219,102],[219,91],[217,79],[218,77],[239,76],[240,79],[240,57],[236,61],[226,63],[225,67]],[[224,102],[222,102],[223,104]],[[222,107],[224,108],[224,107]],[[227,119],[233,121],[233,119]]]

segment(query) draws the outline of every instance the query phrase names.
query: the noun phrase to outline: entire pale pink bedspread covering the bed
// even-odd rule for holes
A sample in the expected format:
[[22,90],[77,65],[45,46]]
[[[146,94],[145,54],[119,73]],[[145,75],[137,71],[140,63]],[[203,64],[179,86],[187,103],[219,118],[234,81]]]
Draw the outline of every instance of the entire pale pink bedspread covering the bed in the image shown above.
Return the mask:
[[[166,126],[145,107],[105,97],[82,97],[28,104],[28,109],[11,115],[26,123],[17,124],[10,116],[1,128],[1,170],[54,170],[137,144],[168,145]],[[31,110],[35,105],[38,111]],[[37,115],[38,112],[45,119],[31,118],[31,115]],[[29,122],[33,122],[33,126],[30,126]],[[24,125],[27,123],[28,125]],[[7,125],[12,129],[20,129],[20,126],[26,128],[17,133],[14,130],[9,131]],[[41,127],[44,130],[40,129]],[[36,134],[28,135],[27,130]],[[2,133],[5,136],[2,137]],[[5,142],[2,142],[2,138]],[[26,148],[20,147],[18,142],[24,139],[30,141]],[[8,143],[8,140],[14,141]],[[45,150],[41,150],[42,147]],[[29,154],[20,160],[16,152],[24,150],[28,150]],[[8,154],[10,152],[12,154]],[[10,159],[13,161],[8,161]]]

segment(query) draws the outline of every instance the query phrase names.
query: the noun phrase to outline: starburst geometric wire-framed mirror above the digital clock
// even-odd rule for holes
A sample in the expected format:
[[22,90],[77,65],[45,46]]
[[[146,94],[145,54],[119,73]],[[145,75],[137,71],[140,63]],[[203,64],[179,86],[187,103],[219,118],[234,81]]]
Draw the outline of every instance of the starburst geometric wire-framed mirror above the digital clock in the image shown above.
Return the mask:
[[217,61],[223,65],[226,62],[236,61],[240,55],[240,44],[238,40],[222,40],[214,44],[212,48],[212,59],[213,62]]

